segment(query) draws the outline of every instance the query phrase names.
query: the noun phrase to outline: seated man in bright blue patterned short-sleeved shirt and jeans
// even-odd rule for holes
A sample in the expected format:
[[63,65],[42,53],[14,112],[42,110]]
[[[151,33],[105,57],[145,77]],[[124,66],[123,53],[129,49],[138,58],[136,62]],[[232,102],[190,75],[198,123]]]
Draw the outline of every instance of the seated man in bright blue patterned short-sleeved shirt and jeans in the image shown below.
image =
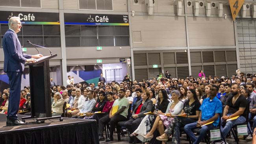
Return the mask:
[[[204,99],[202,105],[200,106],[201,112],[198,121],[192,124],[187,124],[184,127],[184,130],[186,131],[190,139],[193,141],[193,144],[199,144],[201,140],[204,138],[206,132],[217,127],[219,124],[219,114],[222,113],[221,101],[216,97],[219,88],[216,85],[212,85],[210,90],[211,96],[209,98]],[[212,124],[202,126],[212,121],[214,121]],[[198,127],[201,127],[201,129],[199,136],[196,137],[192,130]]]

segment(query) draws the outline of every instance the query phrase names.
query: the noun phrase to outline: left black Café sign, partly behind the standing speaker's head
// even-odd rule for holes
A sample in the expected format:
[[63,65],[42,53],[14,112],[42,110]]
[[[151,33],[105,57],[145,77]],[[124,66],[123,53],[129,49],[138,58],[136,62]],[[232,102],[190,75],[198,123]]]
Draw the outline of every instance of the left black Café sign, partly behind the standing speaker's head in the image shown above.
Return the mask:
[[20,17],[22,24],[59,24],[59,13],[0,11],[0,24],[8,24],[11,17]]

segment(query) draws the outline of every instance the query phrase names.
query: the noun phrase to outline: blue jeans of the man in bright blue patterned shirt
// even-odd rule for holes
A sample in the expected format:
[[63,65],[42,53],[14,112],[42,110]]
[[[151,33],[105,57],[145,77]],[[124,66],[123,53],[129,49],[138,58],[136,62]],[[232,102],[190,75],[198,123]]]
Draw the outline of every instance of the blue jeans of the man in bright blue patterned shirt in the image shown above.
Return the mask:
[[197,127],[197,122],[191,123],[191,124],[187,124],[184,127],[184,130],[186,131],[187,135],[190,137],[190,139],[192,140],[193,144],[199,144],[199,142],[201,142],[201,140],[204,138],[204,135],[206,134],[207,131],[215,128],[215,126],[213,126],[213,124],[208,124],[206,126],[201,127],[200,129],[200,134],[198,137],[196,137],[193,133],[193,129],[198,128]]

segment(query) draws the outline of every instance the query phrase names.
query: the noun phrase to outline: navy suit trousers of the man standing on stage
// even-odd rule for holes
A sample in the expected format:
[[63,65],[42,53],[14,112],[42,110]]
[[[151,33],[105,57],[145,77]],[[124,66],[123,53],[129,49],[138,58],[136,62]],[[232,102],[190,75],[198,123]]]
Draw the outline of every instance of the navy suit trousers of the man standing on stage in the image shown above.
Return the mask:
[[7,72],[10,84],[7,118],[18,119],[16,114],[20,104],[21,75],[22,72]]

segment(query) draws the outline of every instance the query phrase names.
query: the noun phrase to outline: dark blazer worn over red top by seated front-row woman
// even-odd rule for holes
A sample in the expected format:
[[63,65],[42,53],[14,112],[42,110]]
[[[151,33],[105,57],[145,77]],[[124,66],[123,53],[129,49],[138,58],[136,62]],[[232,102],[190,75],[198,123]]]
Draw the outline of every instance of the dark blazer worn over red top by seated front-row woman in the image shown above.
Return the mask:
[[[132,115],[135,114],[135,111],[138,109],[138,107],[139,107],[139,105],[140,105],[141,103],[142,103],[142,99],[136,103],[136,107],[135,107],[134,111],[132,111]],[[141,110],[139,111],[138,116],[139,116],[139,117],[146,116],[146,115],[143,114],[143,113],[150,112],[150,111],[152,111],[152,109],[153,109],[153,102],[152,102],[152,100],[147,99],[147,100],[143,103],[143,105],[141,106]]]

